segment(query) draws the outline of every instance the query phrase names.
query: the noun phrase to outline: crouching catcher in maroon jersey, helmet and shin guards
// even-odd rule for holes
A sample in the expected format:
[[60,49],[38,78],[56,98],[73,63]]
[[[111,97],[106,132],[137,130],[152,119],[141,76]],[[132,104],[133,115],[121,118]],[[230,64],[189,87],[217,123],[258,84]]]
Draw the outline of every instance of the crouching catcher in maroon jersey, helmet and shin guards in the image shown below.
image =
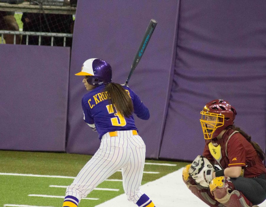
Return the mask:
[[[265,154],[251,137],[233,125],[236,110],[213,100],[200,112],[203,156],[183,169],[189,190],[208,206],[250,207],[266,199]],[[220,168],[214,166],[220,166]]]

